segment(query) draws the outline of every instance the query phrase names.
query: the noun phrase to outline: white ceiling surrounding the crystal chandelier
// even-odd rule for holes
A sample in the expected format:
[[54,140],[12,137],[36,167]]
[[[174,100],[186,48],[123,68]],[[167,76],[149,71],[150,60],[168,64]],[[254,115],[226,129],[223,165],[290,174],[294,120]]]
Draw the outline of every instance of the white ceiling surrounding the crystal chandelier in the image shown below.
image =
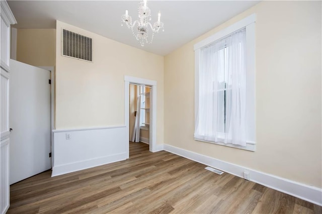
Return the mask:
[[152,21],[158,11],[165,32],[154,35],[153,43],[141,47],[121,15],[128,10],[137,19],[139,1],[8,1],[18,24],[14,28],[56,28],[55,20],[85,29],[118,42],[158,55],[208,32],[259,1],[148,1]]

